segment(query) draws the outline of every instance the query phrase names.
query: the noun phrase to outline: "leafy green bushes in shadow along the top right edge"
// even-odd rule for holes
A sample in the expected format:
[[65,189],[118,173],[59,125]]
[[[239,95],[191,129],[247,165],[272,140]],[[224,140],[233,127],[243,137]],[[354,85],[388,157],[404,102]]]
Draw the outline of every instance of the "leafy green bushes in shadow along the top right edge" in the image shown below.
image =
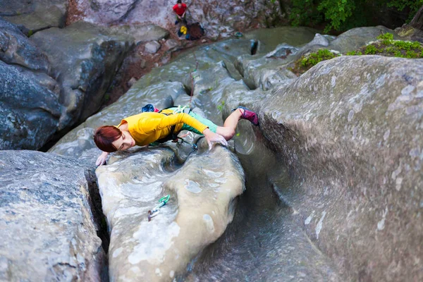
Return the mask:
[[292,0],[289,20],[294,26],[323,24],[324,32],[348,30],[372,24],[372,11],[386,5],[399,11],[409,9],[411,20],[423,0]]

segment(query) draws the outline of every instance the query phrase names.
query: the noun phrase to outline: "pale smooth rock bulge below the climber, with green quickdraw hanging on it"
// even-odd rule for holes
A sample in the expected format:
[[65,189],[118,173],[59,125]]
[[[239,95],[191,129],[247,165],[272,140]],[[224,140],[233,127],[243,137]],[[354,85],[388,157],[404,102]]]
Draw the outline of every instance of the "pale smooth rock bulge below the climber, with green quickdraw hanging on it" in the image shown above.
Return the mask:
[[[171,172],[173,157],[169,149],[147,149],[97,168],[113,281],[171,281],[233,219],[244,183],[238,159],[216,147]],[[168,194],[171,200],[148,221],[148,210]]]

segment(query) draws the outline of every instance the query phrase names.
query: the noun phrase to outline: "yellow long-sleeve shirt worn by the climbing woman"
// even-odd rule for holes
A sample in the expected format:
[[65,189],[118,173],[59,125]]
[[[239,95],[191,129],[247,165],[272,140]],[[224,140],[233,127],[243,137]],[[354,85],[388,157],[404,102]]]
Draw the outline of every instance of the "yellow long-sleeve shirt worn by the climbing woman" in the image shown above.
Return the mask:
[[168,116],[161,113],[145,112],[123,118],[118,127],[124,122],[128,123],[129,133],[138,146],[149,145],[168,136],[173,125],[176,125],[175,132],[178,132],[184,123],[197,129],[200,133],[208,127],[188,114],[171,114],[171,110],[162,112],[168,114]]

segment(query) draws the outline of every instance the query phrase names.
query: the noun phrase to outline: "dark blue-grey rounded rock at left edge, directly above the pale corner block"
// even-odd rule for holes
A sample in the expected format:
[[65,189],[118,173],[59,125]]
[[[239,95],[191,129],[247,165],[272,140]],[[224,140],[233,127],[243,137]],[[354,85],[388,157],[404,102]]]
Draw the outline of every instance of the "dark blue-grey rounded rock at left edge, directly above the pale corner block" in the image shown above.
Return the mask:
[[2,61],[0,73],[0,149],[39,149],[59,127],[59,86]]

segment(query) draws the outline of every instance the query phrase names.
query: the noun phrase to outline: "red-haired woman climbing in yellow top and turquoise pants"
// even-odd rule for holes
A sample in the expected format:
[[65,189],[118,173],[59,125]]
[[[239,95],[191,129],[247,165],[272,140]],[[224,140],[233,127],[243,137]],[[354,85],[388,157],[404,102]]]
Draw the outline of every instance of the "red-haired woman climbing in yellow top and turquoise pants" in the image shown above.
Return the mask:
[[[153,107],[152,111],[123,118],[118,126],[104,125],[97,128],[94,132],[94,142],[103,153],[98,157],[96,165],[104,164],[111,152],[123,151],[135,145],[145,146],[156,141],[175,140],[181,130],[204,135],[209,149],[212,149],[214,142],[228,145],[227,140],[231,140],[235,135],[235,128],[241,118],[247,119],[254,125],[259,125],[257,114],[243,106],[234,109],[233,113],[226,118],[223,126],[215,125],[190,109],[184,110],[175,107],[160,112],[157,112],[157,109],[154,110]],[[184,111],[188,111],[188,114]]]

